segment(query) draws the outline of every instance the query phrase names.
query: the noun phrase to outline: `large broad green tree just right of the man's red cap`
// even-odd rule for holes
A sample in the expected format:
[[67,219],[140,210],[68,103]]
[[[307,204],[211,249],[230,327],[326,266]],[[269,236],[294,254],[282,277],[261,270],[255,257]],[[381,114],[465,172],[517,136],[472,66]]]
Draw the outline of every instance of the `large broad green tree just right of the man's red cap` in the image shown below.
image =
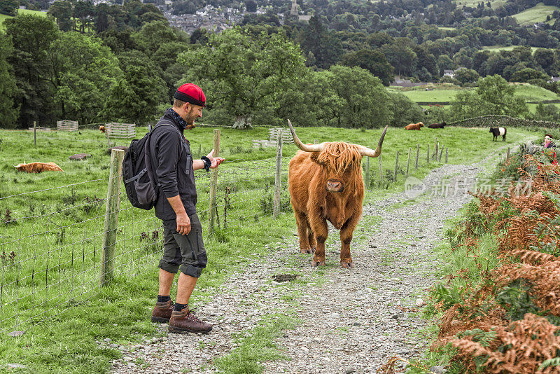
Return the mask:
[[282,117],[282,93],[304,71],[299,48],[286,36],[261,34],[253,39],[239,27],[210,34],[207,46],[181,53],[178,60],[188,69],[189,80],[207,92],[215,122],[235,120],[236,127],[250,125],[255,114]]

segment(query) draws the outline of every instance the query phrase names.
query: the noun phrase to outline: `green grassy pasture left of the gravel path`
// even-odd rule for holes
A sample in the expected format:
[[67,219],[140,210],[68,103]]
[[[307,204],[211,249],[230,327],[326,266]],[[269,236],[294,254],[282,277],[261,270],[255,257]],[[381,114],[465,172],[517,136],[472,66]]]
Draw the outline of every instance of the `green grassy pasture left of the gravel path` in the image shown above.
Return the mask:
[[[296,130],[300,139],[318,141],[350,141],[374,146],[381,130],[349,130],[308,127]],[[146,130],[139,129],[138,134]],[[16,261],[2,265],[3,283],[0,303],[0,372],[6,363],[22,363],[29,373],[104,373],[109,362],[120,356],[116,349],[99,347],[95,340],[111,338],[118,344],[141,339],[154,331],[148,321],[153,307],[160,254],[157,240],[144,238],[159,230],[160,223],[152,214],[131,209],[121,200],[116,248],[115,280],[110,286],[97,288],[99,249],[104,221],[109,155],[106,139],[97,130],[81,133],[39,132],[37,148],[33,133],[23,130],[0,131],[0,195],[1,218],[10,210],[15,223],[3,223],[0,237],[6,254],[14,250]],[[187,136],[193,153],[198,145],[206,154],[211,148],[213,129],[197,127]],[[285,214],[273,221],[271,182],[274,172],[274,148],[253,149],[252,139],[267,138],[268,130],[239,131],[222,129],[221,166],[218,180],[218,216],[221,228],[215,237],[205,236],[209,266],[193,294],[193,305],[210,296],[209,288],[219,286],[229,272],[242,267],[255,256],[265,256],[265,244],[280,237],[292,237],[295,229],[290,213],[289,197],[283,194]],[[393,191],[402,191],[409,147],[414,160],[416,144],[421,145],[419,169],[411,174],[423,177],[440,165],[426,162],[426,146],[433,146],[435,137],[449,148],[449,162],[470,163],[480,160],[494,149],[514,145],[533,137],[532,130],[511,129],[507,141],[493,142],[486,128],[448,127],[444,130],[405,132],[390,128],[384,141],[383,178],[379,178],[377,160],[370,160],[370,191],[366,201],[381,198]],[[119,140],[125,145],[128,141]],[[283,148],[283,174],[296,148]],[[395,167],[395,153],[400,152],[397,183],[386,183]],[[73,153],[90,153],[84,161],[70,161]],[[13,165],[22,162],[53,161],[64,172],[24,174]],[[363,162],[365,165],[365,161]],[[207,227],[208,174],[197,172],[199,205],[197,210]],[[99,179],[99,180],[97,180]],[[55,188],[71,183],[78,186],[57,188],[29,195],[10,195]],[[226,187],[230,193],[226,193]],[[286,191],[285,186],[283,190]],[[229,200],[226,201],[226,198]],[[225,207],[228,206],[228,228],[225,228]],[[250,224],[248,224],[250,223]],[[235,234],[234,234],[235,233]],[[337,235],[329,236],[335,240]],[[294,239],[295,240],[295,239]],[[146,269],[151,269],[147,271]],[[32,276],[31,276],[32,275]],[[44,320],[44,321],[43,321]],[[7,331],[25,331],[20,338],[5,339]],[[55,341],[57,344],[52,344]]]

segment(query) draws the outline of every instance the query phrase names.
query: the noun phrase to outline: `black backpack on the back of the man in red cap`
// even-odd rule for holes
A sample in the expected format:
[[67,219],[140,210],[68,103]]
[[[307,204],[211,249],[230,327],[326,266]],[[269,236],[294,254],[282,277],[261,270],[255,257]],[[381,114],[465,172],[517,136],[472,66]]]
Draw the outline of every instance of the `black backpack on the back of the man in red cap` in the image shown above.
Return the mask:
[[[170,126],[168,120],[161,120],[156,127]],[[134,139],[130,143],[125,160],[123,160],[123,179],[128,200],[133,207],[150,210],[158,201],[159,183],[155,181],[150,158],[150,139],[154,127],[142,139]],[[179,133],[179,130],[176,130]]]

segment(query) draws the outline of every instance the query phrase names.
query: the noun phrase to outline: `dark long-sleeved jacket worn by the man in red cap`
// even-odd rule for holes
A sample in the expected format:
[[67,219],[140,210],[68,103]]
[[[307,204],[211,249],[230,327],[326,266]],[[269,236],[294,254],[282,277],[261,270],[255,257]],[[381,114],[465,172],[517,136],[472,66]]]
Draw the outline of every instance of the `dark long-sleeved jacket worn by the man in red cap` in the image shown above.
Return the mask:
[[[175,128],[160,125],[162,120],[172,123]],[[196,213],[197,191],[195,171],[190,144],[183,136],[183,129],[167,111],[152,130],[150,153],[155,180],[160,186],[158,202],[155,203],[155,216],[162,220],[176,219],[176,214],[167,201],[176,195],[188,215]]]

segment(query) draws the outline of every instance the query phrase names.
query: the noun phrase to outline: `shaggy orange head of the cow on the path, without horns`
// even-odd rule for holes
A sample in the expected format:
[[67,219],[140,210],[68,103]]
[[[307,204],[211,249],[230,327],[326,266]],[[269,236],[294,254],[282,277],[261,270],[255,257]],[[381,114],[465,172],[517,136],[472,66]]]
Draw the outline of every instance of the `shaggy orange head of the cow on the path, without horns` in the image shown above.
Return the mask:
[[354,144],[327,143],[321,152],[311,153],[311,160],[321,165],[328,192],[342,193],[348,188],[355,189],[358,179],[362,180],[362,155]]

